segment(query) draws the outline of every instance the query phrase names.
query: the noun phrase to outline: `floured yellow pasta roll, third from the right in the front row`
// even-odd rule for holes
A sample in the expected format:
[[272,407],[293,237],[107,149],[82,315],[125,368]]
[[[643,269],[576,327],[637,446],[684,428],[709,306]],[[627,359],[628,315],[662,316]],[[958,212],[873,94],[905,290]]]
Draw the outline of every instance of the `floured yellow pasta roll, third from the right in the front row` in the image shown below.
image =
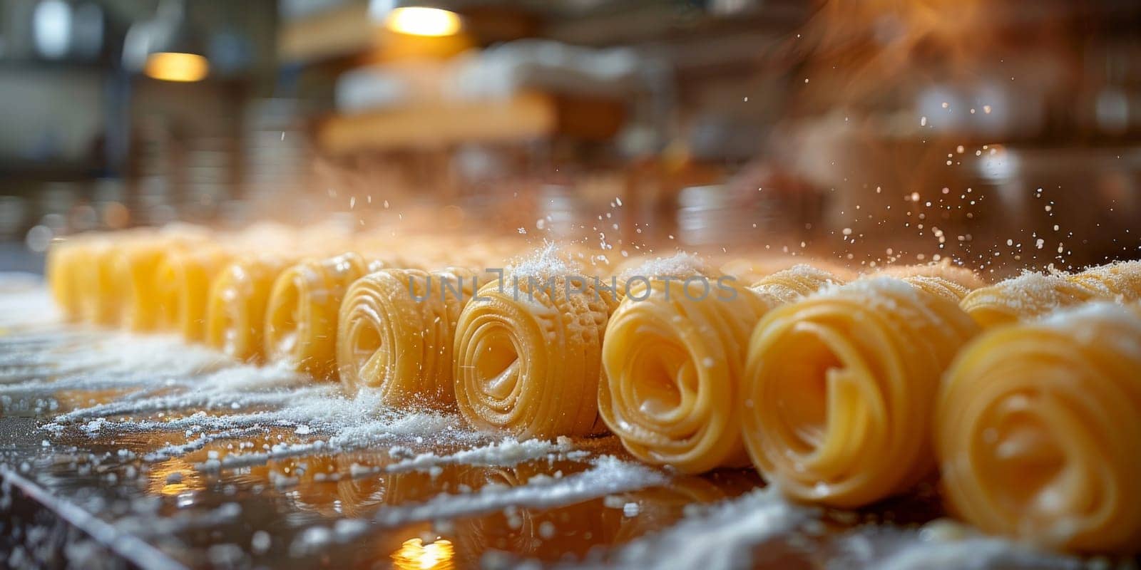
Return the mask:
[[745,465],[737,402],[753,327],[794,290],[834,277],[798,266],[748,288],[715,271],[655,274],[634,282],[607,325],[599,414],[645,462],[685,473]]

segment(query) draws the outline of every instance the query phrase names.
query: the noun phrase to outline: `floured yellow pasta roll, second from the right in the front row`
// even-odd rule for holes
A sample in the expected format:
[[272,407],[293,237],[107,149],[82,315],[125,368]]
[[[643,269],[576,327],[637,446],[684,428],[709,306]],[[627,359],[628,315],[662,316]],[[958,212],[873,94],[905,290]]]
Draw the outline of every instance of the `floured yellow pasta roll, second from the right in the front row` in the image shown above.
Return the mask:
[[753,463],[799,500],[855,507],[906,490],[934,471],[939,377],[977,332],[954,301],[890,277],[772,310],[742,397]]

